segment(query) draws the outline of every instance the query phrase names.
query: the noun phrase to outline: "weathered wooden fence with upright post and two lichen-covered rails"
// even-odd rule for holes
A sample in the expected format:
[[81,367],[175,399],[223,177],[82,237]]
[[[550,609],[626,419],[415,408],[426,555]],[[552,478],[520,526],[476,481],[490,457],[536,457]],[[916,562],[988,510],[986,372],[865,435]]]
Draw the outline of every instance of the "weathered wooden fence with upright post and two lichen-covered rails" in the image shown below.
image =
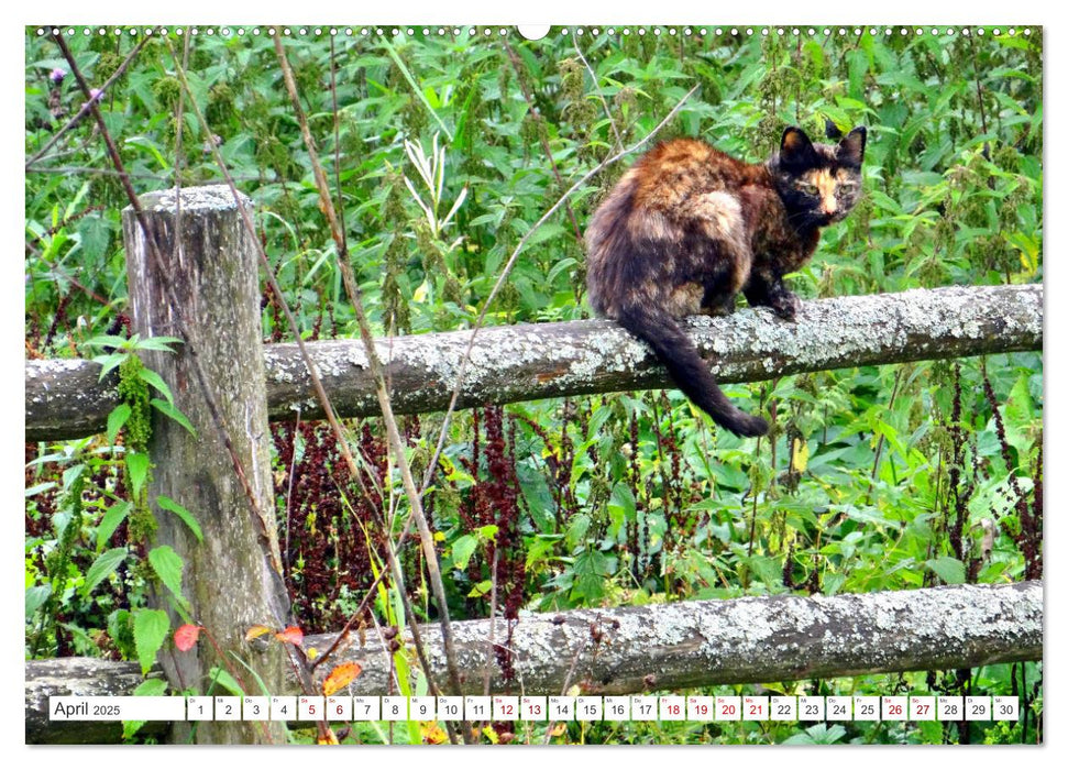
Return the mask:
[[[280,646],[247,642],[255,624],[283,627],[289,607],[275,534],[268,420],[322,415],[308,367],[294,345],[262,345],[255,243],[225,187],[187,188],[141,199],[124,212],[135,330],[187,341],[178,354],[147,353],[197,428],[157,420],[151,497],[194,510],[203,543],[174,517],[159,516],[161,543],[186,563],[192,617],[225,654],[255,669],[275,694],[312,682],[287,674]],[[806,302],[796,323],[763,309],[695,319],[692,334],[724,382],[925,359],[1041,350],[1042,286],[953,287]],[[390,399],[398,413],[458,405],[667,387],[649,351],[607,321],[484,329],[381,339]],[[470,348],[470,353],[469,353]],[[359,342],[308,345],[340,417],[377,414]],[[458,376],[470,354],[462,383]],[[29,361],[26,440],[102,431],[118,404],[113,380],[89,361]],[[207,395],[206,395],[207,394]],[[212,395],[214,394],[214,395]],[[235,471],[236,469],[236,471]],[[163,606],[166,603],[162,602]],[[179,623],[173,613],[175,625]],[[462,688],[499,676],[487,640],[491,620],[453,624]],[[770,682],[868,672],[959,669],[1042,657],[1041,582],[951,586],[835,597],[770,596],[729,602],[577,610],[524,616],[513,630],[517,681],[527,692],[559,692],[569,678],[587,692],[628,693],[715,683]],[[500,622],[496,638],[499,638]],[[443,671],[440,629],[420,629],[431,673]],[[328,637],[309,640],[320,649]],[[176,688],[197,688],[218,662],[203,646],[165,649],[161,671]],[[359,660],[353,692],[385,692],[388,666],[374,640],[349,640],[340,660]],[[113,739],[113,729],[47,723],[48,695],[129,694],[135,667],[88,659],[26,662],[31,741]],[[434,669],[440,669],[433,671]],[[375,672],[378,673],[375,673]],[[156,725],[154,728],[161,729]],[[181,739],[184,727],[170,726]],[[277,727],[275,728],[278,729]],[[280,736],[275,735],[274,738]],[[202,723],[197,740],[253,743],[247,723]],[[269,736],[268,736],[269,739]]]

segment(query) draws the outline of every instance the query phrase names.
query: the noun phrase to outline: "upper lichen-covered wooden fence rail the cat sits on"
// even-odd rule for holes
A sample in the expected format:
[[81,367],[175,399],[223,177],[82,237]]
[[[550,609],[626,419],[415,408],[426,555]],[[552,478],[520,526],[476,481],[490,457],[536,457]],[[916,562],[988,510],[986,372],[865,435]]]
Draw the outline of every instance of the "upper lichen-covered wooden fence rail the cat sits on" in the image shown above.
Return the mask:
[[[723,382],[784,374],[1042,350],[1043,287],[976,286],[838,297],[805,302],[796,323],[763,308],[695,318],[702,352],[718,359]],[[444,409],[471,332],[378,339],[398,414]],[[308,345],[342,417],[378,414],[360,341]],[[322,416],[295,344],[266,345],[272,420]],[[84,360],[27,361],[26,440],[102,432],[117,405],[113,383],[97,383]],[[459,406],[670,387],[648,348],[610,321],[526,323],[483,329],[472,350]]]

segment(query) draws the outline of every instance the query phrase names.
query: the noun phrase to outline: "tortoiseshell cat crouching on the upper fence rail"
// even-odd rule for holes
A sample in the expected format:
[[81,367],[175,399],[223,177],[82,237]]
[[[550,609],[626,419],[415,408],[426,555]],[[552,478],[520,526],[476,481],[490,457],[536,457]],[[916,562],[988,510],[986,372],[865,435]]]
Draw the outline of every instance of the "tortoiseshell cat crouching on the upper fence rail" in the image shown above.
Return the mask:
[[727,399],[678,319],[729,312],[741,292],[793,320],[800,304],[782,276],[860,197],[867,131],[841,138],[828,122],[827,138],[840,141],[814,144],[791,127],[762,164],[695,139],[664,142],[623,176],[586,231],[593,309],[648,342],[675,385],[739,436],[762,436],[768,422]]

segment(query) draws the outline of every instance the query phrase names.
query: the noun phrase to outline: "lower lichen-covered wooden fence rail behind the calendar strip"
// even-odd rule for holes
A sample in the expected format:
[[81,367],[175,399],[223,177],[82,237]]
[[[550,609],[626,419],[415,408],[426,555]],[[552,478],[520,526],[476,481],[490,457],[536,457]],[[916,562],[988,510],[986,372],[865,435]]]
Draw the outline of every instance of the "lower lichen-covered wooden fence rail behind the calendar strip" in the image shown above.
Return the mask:
[[[434,673],[443,676],[441,630],[431,624],[421,631]],[[509,649],[517,679],[510,683],[502,680],[487,649],[489,620],[453,623],[453,635],[463,686],[471,694],[481,693],[487,673],[494,693],[558,694],[572,667],[571,681],[590,694],[976,668],[1042,659],[1043,584],[780,595],[527,615],[513,631]],[[324,649],[332,640],[331,635],[306,637],[305,645]],[[386,654],[371,635],[364,647],[353,635],[334,663],[346,660],[363,667],[349,694],[396,691],[388,686]],[[319,676],[327,673],[320,671]],[[130,694],[139,678],[136,663],[70,658],[27,661],[25,680],[26,740],[53,743],[58,733],[44,717],[49,695]],[[296,682],[289,686],[296,694]],[[101,728],[99,723],[81,726],[84,740],[101,735],[92,733]]]

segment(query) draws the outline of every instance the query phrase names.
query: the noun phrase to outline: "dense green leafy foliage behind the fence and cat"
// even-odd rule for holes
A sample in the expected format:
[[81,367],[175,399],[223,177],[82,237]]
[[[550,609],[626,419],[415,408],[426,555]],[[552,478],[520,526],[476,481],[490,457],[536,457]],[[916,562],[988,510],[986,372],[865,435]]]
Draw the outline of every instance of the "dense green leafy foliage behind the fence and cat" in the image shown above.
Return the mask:
[[[697,135],[757,162],[789,124],[812,135],[828,119],[868,127],[866,198],[792,278],[802,297],[1042,280],[1041,30],[585,28],[538,42],[496,28],[367,32],[294,30],[285,47],[378,334],[470,326],[531,224],[694,86],[658,140]],[[99,87],[136,40],[79,28],[68,44]],[[188,94],[175,75],[184,55]],[[91,120],[41,153],[84,102],[56,68],[69,69],[55,44],[27,30],[26,353],[90,358],[99,350],[87,341],[122,328],[128,201]],[[268,35],[157,36],[100,99],[139,191],[219,182],[218,144],[258,204],[300,333],[354,334]],[[531,235],[489,323],[588,316],[581,231],[635,157],[596,175]],[[291,339],[278,298],[265,292],[263,305],[267,341]],[[494,580],[497,610],[516,617],[1041,576],[1042,383],[1042,358],[1030,353],[729,388],[742,408],[771,416],[760,440],[717,431],[678,392],[461,414],[428,496],[453,617],[487,616]],[[437,415],[406,424],[420,473],[440,425]],[[383,512],[398,496],[377,422],[353,428],[378,490],[372,498],[354,492],[328,430],[274,426],[287,580],[305,630],[337,628],[360,603],[382,562]],[[151,527],[109,518],[130,496],[112,443],[26,446],[27,656],[135,657],[130,613],[153,572],[143,559],[121,560],[144,556]],[[106,552],[120,566],[92,572]],[[417,554],[406,559],[409,593],[432,617]],[[388,601],[374,612],[398,623]],[[1033,743],[1041,683],[1041,667],[1028,664],[768,685],[1013,693],[1026,714],[1013,725],[635,723],[554,740]],[[733,690],[751,691],[715,692]]]

